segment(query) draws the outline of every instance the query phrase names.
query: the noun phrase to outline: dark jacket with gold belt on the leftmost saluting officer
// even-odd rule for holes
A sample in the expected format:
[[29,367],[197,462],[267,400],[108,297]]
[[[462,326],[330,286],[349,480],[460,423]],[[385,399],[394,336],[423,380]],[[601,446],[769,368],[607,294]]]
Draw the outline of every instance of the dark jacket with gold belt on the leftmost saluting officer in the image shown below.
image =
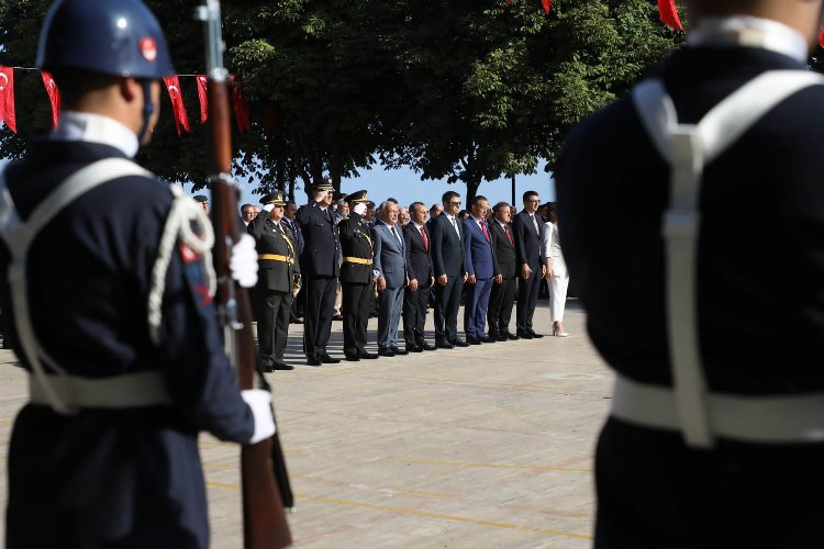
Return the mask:
[[278,261],[275,259],[258,258],[258,289],[274,292],[291,292],[294,273],[300,272],[292,232],[289,231],[286,223],[276,224],[271,221],[269,212],[265,211],[252,220],[246,229],[255,237],[258,256],[271,254],[289,259],[289,261]]

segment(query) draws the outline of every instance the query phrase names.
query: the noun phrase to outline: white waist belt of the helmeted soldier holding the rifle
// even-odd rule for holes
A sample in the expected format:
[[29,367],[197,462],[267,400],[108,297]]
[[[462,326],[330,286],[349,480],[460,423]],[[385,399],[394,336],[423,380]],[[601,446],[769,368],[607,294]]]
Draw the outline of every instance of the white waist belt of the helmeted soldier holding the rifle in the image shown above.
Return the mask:
[[[48,384],[73,408],[134,408],[171,404],[159,371],[123,373],[109,378],[48,376]],[[37,378],[29,376],[29,402],[49,405]]]

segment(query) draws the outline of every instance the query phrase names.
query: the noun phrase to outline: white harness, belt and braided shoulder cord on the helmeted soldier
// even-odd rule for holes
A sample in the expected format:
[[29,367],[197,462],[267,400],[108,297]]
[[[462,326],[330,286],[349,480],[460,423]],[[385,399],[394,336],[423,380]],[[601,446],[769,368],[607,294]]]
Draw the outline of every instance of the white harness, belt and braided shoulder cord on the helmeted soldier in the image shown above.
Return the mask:
[[[86,192],[113,179],[127,176],[153,177],[136,164],[123,158],[108,158],[91,164],[73,173],[43,200],[31,213],[26,222],[18,215],[11,193],[0,172],[0,237],[4,240],[11,260],[9,285],[14,307],[14,324],[22,350],[32,368],[30,377],[30,400],[37,404],[48,404],[62,414],[76,413],[80,407],[123,408],[167,404],[170,402],[160,371],[121,374],[102,379],[90,379],[68,374],[49,357],[37,340],[29,311],[29,288],[26,265],[29,249],[40,231],[46,226],[65,206]],[[160,249],[153,269],[149,291],[148,315],[153,340],[157,344],[160,325],[160,304],[166,268],[171,258],[175,240],[181,240],[196,253],[202,253],[211,266],[209,250],[214,235],[209,220],[197,203],[182,197],[180,189],[171,187],[175,194],[171,211],[164,227]],[[191,229],[193,222],[202,237]],[[205,248],[205,249],[204,249]],[[214,288],[213,271],[208,271],[210,289]],[[43,363],[54,370],[46,372]]]

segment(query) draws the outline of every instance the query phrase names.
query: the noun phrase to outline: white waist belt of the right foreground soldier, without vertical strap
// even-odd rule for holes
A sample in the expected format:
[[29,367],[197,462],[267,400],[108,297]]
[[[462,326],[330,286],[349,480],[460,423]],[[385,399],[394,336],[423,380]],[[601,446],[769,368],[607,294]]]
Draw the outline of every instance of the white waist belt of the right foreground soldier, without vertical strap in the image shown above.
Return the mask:
[[[743,395],[706,393],[713,435],[766,444],[824,441],[824,393]],[[682,432],[676,392],[619,376],[612,415],[645,427]]]

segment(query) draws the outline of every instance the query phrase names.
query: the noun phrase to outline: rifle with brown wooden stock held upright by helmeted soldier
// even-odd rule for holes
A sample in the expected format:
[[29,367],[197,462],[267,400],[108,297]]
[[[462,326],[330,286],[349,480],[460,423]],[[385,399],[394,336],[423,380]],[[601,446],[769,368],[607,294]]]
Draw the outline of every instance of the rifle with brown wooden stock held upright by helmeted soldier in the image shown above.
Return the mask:
[[[227,71],[223,66],[223,36],[219,0],[203,0],[196,10],[203,21],[209,92],[209,133],[213,159],[212,224],[214,225],[214,270],[218,276],[215,302],[230,361],[237,370],[241,389],[253,389],[255,372],[269,390],[257,366],[252,334],[252,306],[248,293],[234,283],[229,268],[232,246],[240,239],[237,197],[232,179],[232,130],[229,107]],[[245,549],[288,547],[292,542],[283,506],[292,507],[292,493],[278,434],[241,450],[243,484],[243,535]]]

